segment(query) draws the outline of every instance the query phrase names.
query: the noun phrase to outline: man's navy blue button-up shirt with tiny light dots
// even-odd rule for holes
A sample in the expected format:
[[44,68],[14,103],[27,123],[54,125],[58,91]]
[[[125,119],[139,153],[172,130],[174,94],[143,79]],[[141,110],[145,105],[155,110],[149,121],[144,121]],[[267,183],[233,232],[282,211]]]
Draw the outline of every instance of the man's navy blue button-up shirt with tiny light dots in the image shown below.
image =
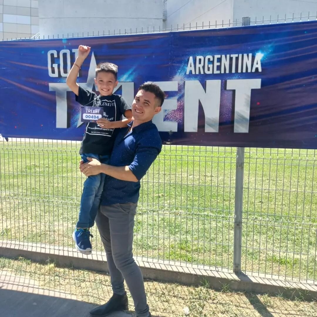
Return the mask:
[[[133,122],[129,123],[129,128]],[[152,121],[140,124],[127,133],[121,128],[114,142],[109,165],[129,166],[138,182],[129,182],[106,176],[101,205],[137,203],[140,179],[146,174],[162,149],[159,131]]]

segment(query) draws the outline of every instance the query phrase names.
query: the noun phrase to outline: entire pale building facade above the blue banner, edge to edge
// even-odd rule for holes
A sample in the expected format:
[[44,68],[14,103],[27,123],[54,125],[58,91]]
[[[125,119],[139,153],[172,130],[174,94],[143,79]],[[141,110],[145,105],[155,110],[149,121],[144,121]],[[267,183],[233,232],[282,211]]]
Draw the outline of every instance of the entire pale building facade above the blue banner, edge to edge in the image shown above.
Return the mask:
[[317,0],[0,0],[0,40],[232,26],[244,16],[276,23],[293,14],[316,19]]

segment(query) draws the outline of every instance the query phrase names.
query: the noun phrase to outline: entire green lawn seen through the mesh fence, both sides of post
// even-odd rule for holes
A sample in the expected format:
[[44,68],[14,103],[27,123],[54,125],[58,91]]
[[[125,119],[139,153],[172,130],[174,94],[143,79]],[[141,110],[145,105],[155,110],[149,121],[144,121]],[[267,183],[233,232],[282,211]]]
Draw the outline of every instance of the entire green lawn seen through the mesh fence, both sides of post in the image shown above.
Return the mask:
[[[74,142],[0,144],[0,239],[73,246],[77,152]],[[245,149],[243,270],[317,279],[316,158]],[[134,255],[232,269],[235,173],[236,148],[163,147],[141,182]]]

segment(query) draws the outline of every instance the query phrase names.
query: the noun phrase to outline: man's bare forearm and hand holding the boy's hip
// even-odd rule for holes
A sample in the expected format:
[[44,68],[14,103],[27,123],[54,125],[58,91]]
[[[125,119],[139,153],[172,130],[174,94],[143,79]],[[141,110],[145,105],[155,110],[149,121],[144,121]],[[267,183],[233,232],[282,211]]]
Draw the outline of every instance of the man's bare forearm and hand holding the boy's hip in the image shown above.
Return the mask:
[[129,182],[137,182],[138,179],[134,176],[129,166],[112,166],[108,164],[101,164],[97,159],[87,158],[88,161],[85,164],[80,165],[80,170],[86,175],[97,175],[104,173],[120,180]]

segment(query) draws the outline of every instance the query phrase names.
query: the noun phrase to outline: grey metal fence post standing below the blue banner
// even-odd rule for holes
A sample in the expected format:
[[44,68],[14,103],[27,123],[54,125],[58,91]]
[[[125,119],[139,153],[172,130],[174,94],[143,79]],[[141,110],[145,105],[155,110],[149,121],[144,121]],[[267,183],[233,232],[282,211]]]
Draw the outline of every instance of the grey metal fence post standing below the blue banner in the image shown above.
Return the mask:
[[236,157],[236,193],[235,193],[235,229],[233,238],[233,271],[241,272],[242,247],[242,205],[243,205],[243,172],[244,147],[237,147]]

